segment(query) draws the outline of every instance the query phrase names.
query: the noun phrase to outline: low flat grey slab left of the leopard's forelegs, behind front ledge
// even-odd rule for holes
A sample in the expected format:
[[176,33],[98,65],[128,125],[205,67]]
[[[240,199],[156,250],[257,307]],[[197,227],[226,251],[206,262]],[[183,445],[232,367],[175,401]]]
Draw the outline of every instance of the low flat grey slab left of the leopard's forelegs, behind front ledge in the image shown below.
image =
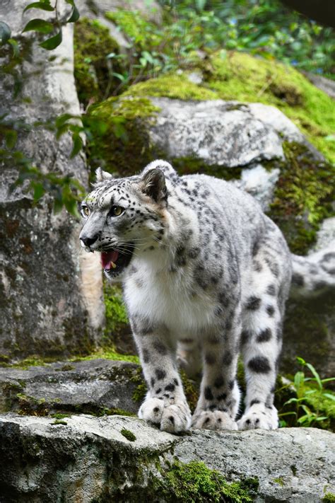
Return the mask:
[[[129,362],[94,359],[0,368],[0,410],[95,412],[119,409],[136,413],[133,393],[141,383],[140,367]],[[18,395],[19,393],[19,395]]]

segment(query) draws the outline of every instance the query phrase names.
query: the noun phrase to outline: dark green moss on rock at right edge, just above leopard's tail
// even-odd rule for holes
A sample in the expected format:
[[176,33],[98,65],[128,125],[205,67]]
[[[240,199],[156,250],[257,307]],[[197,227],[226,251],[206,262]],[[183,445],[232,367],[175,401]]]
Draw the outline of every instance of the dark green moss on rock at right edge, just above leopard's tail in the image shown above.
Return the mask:
[[293,253],[304,255],[315,243],[319,224],[334,214],[334,168],[313,161],[305,146],[283,142],[286,161],[274,190],[269,216]]

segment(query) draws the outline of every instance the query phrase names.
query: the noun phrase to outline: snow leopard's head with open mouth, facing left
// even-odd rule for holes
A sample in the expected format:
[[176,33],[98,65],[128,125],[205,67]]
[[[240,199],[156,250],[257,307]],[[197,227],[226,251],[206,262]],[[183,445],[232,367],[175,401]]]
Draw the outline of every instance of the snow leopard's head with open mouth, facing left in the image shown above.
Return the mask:
[[134,255],[155,247],[163,237],[165,174],[170,170],[175,173],[165,161],[154,161],[139,176],[113,178],[98,168],[95,188],[81,204],[79,238],[86,251],[101,253],[109,279],[120,279]]

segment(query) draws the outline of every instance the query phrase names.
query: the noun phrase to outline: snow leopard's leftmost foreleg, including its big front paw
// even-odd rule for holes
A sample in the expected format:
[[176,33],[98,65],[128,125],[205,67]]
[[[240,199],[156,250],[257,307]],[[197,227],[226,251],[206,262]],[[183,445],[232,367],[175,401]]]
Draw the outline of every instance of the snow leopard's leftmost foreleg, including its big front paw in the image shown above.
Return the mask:
[[165,432],[189,429],[191,412],[177,371],[174,337],[163,325],[154,326],[140,318],[131,318],[131,328],[148,386],[139,417],[158,424]]

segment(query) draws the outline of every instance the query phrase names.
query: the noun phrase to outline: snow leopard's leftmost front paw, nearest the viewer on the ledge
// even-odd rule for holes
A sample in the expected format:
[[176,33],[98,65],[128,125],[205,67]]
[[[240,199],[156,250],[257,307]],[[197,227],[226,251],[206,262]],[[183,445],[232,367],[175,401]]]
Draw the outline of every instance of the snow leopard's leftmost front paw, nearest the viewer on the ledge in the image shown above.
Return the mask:
[[170,405],[160,398],[148,398],[140,407],[139,417],[159,424],[163,432],[185,432],[191,425],[189,406],[182,400]]

